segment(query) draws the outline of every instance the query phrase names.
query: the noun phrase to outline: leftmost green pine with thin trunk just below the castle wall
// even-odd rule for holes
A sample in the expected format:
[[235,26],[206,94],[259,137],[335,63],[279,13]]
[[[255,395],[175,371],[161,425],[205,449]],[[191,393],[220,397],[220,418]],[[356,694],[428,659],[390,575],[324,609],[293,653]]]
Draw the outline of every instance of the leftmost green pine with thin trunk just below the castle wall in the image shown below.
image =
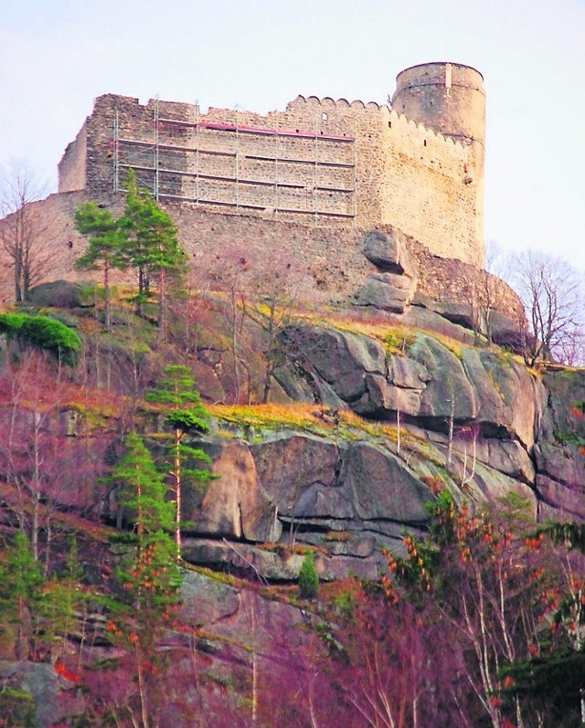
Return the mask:
[[125,267],[122,258],[124,233],[110,210],[86,202],[75,211],[75,227],[81,235],[90,238],[88,249],[75,261],[80,270],[103,271],[104,315],[107,331],[112,328],[110,271]]

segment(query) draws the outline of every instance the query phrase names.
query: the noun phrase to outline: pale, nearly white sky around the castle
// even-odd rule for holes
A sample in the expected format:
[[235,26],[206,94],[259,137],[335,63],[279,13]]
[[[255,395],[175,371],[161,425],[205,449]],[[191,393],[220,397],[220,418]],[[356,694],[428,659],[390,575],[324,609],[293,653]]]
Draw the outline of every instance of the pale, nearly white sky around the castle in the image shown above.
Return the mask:
[[48,192],[103,93],[283,110],[385,102],[401,69],[484,74],[486,239],[585,269],[585,0],[9,0],[0,15],[0,164]]

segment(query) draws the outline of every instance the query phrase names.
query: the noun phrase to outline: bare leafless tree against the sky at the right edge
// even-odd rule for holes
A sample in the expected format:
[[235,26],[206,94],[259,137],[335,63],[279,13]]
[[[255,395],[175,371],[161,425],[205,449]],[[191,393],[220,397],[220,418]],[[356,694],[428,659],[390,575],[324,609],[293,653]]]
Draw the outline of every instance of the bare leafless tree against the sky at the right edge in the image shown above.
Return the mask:
[[527,250],[516,256],[514,280],[531,327],[525,336],[527,364],[565,361],[585,326],[583,274],[562,258]]

